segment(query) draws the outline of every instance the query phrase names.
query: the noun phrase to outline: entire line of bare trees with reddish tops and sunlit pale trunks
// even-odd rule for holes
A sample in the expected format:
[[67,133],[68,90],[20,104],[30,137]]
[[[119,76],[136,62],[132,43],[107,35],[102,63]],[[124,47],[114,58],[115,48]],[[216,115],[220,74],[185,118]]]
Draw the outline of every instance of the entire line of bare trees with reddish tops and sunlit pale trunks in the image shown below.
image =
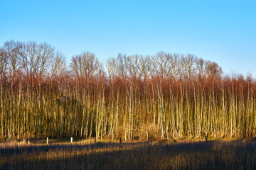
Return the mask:
[[256,81],[215,62],[159,52],[70,64],[47,43],[0,47],[0,137],[125,140],[256,135]]

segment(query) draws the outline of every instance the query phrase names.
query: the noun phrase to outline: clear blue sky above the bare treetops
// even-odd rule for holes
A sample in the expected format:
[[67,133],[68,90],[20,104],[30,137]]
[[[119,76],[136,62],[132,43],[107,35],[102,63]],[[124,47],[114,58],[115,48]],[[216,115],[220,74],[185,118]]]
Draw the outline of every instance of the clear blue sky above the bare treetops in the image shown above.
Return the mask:
[[0,0],[0,45],[48,42],[70,59],[192,53],[256,77],[256,1]]

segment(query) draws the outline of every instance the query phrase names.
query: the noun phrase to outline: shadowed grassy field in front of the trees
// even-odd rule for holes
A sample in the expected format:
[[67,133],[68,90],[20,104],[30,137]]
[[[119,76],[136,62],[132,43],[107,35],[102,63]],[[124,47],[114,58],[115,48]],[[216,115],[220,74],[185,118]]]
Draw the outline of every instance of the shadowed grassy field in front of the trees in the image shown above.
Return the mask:
[[2,142],[0,169],[256,169],[256,142]]

